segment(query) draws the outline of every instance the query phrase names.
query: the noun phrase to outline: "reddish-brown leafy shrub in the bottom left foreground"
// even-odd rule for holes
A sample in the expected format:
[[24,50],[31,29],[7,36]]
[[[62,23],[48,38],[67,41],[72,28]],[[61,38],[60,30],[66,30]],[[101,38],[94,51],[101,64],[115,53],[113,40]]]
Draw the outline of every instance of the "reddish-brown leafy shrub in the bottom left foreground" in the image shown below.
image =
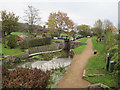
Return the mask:
[[23,68],[13,71],[2,68],[2,76],[2,88],[46,88],[50,78],[49,72]]

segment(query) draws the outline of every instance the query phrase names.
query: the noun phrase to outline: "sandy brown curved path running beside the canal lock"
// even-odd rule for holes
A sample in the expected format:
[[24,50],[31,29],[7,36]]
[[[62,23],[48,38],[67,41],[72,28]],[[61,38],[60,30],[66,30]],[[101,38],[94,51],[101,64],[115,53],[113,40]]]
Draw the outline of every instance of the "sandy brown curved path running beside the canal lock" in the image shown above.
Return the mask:
[[59,81],[56,88],[83,88],[90,85],[91,83],[82,79],[82,74],[88,59],[93,55],[92,42],[91,39],[88,39],[86,48],[80,55],[74,56],[71,66]]

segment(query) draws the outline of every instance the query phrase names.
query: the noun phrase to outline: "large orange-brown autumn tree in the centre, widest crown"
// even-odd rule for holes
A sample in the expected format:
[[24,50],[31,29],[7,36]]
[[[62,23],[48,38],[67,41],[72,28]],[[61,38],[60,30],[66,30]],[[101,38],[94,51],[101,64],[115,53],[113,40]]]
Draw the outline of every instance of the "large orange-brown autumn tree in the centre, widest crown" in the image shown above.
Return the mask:
[[67,13],[64,12],[57,12],[57,13],[50,13],[48,22],[48,29],[50,29],[50,32],[61,32],[64,30],[73,30],[74,23],[70,18],[67,16]]

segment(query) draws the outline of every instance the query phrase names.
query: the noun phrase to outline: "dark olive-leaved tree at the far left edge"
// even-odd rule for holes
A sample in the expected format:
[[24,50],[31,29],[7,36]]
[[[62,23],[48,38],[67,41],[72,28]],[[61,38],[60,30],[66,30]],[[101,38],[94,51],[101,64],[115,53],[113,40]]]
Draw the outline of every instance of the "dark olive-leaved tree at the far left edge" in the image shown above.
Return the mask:
[[7,11],[1,12],[1,19],[2,19],[2,30],[3,30],[3,36],[5,35],[5,32],[7,35],[10,35],[11,32],[17,30],[18,26],[18,16],[15,16],[15,14],[12,12],[7,13]]

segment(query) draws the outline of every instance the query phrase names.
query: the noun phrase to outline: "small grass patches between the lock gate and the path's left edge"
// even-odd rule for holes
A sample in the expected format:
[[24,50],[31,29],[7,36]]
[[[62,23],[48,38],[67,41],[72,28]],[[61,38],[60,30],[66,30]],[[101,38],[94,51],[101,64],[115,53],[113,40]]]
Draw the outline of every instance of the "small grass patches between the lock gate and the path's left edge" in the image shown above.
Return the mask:
[[[82,43],[86,43],[88,40],[88,38],[82,38],[81,40],[77,40],[77,41],[81,41]],[[83,52],[83,50],[85,49],[86,45],[80,45],[79,47],[74,48],[74,51],[76,54],[80,54]]]

